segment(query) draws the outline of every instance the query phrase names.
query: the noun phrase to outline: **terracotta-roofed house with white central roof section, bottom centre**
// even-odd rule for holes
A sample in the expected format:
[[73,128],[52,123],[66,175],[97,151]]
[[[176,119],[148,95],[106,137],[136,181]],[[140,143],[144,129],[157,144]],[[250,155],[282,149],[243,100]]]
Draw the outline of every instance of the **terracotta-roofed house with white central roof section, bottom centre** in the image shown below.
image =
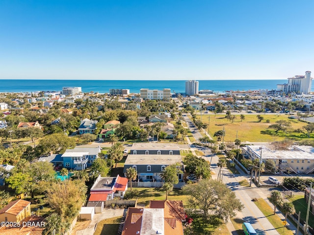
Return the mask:
[[151,201],[149,208],[129,208],[122,235],[183,235],[182,201]]

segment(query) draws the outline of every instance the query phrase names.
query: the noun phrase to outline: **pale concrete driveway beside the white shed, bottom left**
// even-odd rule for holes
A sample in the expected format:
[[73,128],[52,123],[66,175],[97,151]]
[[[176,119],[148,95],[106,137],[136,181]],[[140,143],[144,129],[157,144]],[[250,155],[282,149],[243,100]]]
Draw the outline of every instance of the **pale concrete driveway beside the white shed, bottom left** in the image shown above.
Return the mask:
[[126,215],[127,211],[128,209],[105,209],[103,213],[95,214],[89,226],[86,229],[77,231],[76,235],[92,235],[94,234],[96,226],[100,221],[117,216],[123,216],[124,214]]

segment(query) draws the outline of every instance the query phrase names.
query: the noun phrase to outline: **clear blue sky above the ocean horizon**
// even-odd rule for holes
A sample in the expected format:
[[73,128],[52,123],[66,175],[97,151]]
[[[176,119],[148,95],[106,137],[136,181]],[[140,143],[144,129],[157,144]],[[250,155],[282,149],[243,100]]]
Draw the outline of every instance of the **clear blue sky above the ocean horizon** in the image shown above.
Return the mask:
[[0,1],[0,79],[286,79],[313,40],[313,0]]

